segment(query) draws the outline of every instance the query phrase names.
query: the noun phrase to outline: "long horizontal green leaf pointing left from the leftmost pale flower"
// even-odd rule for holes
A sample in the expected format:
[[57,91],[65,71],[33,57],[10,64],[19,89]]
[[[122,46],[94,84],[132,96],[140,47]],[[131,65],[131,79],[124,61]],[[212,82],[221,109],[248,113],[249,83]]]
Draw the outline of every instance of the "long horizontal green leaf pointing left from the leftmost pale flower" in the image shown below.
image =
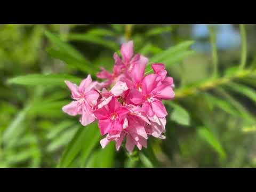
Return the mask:
[[71,81],[73,83],[80,83],[82,78],[74,77],[66,74],[30,74],[24,76],[18,76],[8,79],[7,83],[18,85],[43,85],[43,86],[66,86],[65,81]]

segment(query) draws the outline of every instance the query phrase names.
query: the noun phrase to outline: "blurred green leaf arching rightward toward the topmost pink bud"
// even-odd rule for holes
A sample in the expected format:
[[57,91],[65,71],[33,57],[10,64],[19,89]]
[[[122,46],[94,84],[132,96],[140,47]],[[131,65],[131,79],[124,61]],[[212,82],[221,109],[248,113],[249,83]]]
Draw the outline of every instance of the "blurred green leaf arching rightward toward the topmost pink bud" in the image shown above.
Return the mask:
[[113,51],[119,49],[119,45],[113,41],[103,39],[103,37],[96,36],[93,34],[68,34],[68,40],[70,41],[85,41],[105,46]]

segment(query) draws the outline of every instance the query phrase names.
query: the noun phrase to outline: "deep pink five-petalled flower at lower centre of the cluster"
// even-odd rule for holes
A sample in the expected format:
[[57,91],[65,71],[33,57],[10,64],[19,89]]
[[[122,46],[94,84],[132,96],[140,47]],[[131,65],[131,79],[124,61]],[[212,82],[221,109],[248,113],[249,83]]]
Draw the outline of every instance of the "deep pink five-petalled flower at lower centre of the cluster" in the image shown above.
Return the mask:
[[107,105],[94,111],[95,117],[99,120],[100,133],[105,135],[111,131],[122,131],[127,113],[129,110],[112,97]]

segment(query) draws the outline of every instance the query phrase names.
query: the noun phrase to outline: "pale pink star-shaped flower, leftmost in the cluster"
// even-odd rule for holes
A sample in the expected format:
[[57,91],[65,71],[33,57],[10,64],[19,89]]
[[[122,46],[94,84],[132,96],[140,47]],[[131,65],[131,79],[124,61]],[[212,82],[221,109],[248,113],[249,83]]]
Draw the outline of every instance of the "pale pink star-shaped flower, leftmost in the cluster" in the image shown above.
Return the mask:
[[84,79],[79,87],[69,81],[65,81],[71,91],[72,101],[64,106],[62,110],[71,116],[82,115],[80,122],[82,125],[90,124],[94,121],[93,107],[97,104],[99,93],[94,89],[98,82],[92,82],[90,75]]

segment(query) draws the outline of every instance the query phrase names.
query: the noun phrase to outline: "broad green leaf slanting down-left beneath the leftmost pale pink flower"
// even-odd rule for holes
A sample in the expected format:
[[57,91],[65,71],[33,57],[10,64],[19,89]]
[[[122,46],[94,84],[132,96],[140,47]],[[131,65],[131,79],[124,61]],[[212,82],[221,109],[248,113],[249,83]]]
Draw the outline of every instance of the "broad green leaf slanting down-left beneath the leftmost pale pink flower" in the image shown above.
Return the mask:
[[[73,139],[69,142],[63,155],[60,158],[58,167],[69,167],[74,161],[77,154],[83,151],[83,157],[90,155],[93,147],[98,142],[100,137],[97,124],[92,123],[86,127],[79,127]],[[84,155],[85,154],[85,155]],[[86,158],[84,161],[86,161]]]

